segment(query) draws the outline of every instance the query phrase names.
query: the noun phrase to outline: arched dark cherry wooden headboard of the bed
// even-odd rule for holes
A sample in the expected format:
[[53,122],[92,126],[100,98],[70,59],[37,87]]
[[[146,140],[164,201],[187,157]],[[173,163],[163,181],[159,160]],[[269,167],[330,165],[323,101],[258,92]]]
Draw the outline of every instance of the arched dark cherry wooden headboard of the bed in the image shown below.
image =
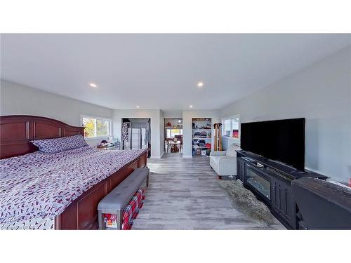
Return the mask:
[[29,154],[38,148],[29,141],[84,135],[84,127],[29,115],[0,116],[0,159]]

